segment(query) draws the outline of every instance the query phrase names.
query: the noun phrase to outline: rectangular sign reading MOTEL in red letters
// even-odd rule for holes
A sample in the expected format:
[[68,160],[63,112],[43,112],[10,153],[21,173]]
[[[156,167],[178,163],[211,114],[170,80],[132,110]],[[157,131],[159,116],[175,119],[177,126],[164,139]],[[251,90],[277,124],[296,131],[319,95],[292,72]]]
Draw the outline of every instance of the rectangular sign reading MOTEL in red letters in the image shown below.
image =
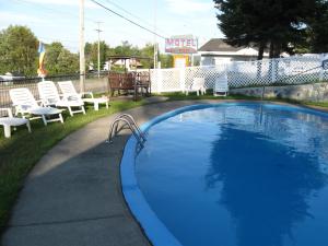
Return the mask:
[[197,39],[192,36],[173,36],[165,38],[165,52],[195,54],[197,52]]

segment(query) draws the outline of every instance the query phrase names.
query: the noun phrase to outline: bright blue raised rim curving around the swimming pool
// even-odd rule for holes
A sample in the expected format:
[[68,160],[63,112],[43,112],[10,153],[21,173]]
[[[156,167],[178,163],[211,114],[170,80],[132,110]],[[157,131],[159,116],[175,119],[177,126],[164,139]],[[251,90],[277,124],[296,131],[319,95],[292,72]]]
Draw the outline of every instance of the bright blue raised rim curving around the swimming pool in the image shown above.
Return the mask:
[[[319,115],[328,117],[328,113],[319,112],[316,109],[311,109],[302,106],[295,105],[281,105],[268,102],[237,102],[237,103],[215,103],[215,104],[195,104],[190,106],[184,106],[168,113],[164,113],[145,124],[140,128],[143,132],[147,132],[153,125],[156,125],[167,118],[181,114],[188,110],[197,110],[209,107],[218,106],[246,106],[246,105],[262,105],[265,107],[284,109],[284,110],[295,110],[313,115]],[[120,163],[120,176],[121,176],[121,189],[124,197],[128,207],[130,208],[133,216],[140,223],[145,235],[153,245],[156,246],[181,246],[178,239],[169,232],[169,230],[163,224],[163,222],[157,218],[155,212],[151,209],[150,204],[147,202],[142,191],[139,188],[138,180],[136,177],[136,144],[137,140],[133,136],[129,138],[124,150],[121,163]]]

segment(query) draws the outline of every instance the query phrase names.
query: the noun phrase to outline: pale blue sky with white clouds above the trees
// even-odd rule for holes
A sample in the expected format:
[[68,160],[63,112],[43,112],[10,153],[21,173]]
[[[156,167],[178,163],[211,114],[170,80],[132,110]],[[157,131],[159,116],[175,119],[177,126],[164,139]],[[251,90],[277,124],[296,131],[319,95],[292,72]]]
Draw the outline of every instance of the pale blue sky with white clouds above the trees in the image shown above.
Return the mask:
[[[212,0],[96,0],[138,24],[164,37],[194,35],[199,46],[210,38],[223,37],[218,28]],[[110,47],[122,40],[143,47],[154,43],[154,35],[106,11],[92,0],[85,4],[85,42],[101,40]],[[79,0],[0,0],[0,30],[26,25],[44,43],[61,42],[69,50],[79,50]],[[164,51],[165,40],[156,37]]]

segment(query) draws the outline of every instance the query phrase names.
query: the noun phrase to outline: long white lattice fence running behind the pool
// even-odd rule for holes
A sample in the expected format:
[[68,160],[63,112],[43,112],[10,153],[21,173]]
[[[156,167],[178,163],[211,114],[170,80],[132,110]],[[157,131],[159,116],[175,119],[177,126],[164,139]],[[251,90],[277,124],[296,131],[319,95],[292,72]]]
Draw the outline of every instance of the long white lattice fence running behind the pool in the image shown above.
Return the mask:
[[152,69],[152,92],[184,92],[194,78],[204,78],[206,87],[212,89],[215,79],[224,72],[230,87],[314,83],[328,80],[328,71],[321,68],[327,58],[327,54],[318,54],[220,66]]

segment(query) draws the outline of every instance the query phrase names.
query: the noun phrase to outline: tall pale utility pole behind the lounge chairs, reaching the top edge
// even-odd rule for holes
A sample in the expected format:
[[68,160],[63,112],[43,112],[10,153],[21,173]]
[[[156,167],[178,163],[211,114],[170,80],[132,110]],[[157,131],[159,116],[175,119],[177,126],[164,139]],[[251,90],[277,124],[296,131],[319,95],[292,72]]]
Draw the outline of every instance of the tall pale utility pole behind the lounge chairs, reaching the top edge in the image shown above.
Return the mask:
[[84,92],[85,57],[84,57],[84,0],[80,0],[80,92]]

